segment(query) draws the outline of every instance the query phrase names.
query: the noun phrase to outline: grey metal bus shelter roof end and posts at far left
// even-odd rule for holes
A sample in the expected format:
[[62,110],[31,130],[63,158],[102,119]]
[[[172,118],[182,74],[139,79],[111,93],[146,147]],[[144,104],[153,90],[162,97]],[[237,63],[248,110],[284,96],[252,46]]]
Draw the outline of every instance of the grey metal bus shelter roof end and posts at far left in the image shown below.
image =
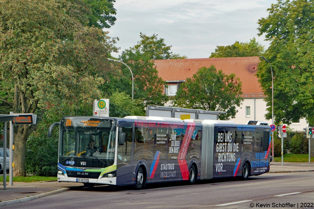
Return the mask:
[[[19,115],[0,115],[0,122],[3,122],[3,153],[7,152],[7,123],[8,121],[13,121],[14,117]],[[10,150],[12,147],[10,148]],[[10,152],[11,155],[11,152]],[[7,155],[3,154],[3,189],[7,189]],[[10,156],[13,159],[13,156]]]

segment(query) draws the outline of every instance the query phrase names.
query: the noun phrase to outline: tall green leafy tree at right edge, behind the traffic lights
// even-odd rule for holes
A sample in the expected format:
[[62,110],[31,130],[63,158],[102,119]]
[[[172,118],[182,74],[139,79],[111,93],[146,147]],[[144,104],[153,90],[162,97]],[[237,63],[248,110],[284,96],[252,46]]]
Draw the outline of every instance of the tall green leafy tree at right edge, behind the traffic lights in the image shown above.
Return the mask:
[[[290,124],[306,118],[314,122],[314,2],[278,1],[258,21],[259,34],[271,42],[265,52],[273,68],[275,122]],[[271,118],[272,77],[269,64],[258,65],[257,77],[267,97]]]

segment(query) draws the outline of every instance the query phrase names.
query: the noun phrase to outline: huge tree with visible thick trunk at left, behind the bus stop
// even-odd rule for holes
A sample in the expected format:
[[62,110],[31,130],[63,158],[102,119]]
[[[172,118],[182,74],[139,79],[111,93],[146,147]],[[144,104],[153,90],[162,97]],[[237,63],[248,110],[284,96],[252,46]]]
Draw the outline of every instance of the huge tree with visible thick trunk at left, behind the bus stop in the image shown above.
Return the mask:
[[[116,48],[105,32],[84,26],[88,19],[82,5],[66,0],[0,1],[0,79],[14,113],[35,113],[40,122],[50,109],[62,115],[64,109],[100,97],[104,80],[99,75],[111,69],[106,56]],[[37,126],[15,129],[14,176],[26,174],[26,140]]]

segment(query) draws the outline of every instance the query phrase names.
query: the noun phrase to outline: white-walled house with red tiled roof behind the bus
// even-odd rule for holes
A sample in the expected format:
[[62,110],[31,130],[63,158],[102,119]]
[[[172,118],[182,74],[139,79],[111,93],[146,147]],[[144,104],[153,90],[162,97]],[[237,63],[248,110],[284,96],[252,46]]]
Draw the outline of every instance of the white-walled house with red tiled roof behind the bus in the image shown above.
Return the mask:
[[[165,94],[175,96],[182,82],[191,78],[201,67],[214,65],[218,70],[222,70],[226,75],[236,74],[242,81],[243,98],[242,105],[237,107],[236,118],[231,120],[237,124],[246,124],[250,120],[266,120],[265,95],[260,87],[258,78],[255,76],[259,57],[228,57],[228,58],[203,58],[203,59],[177,59],[177,60],[154,60],[154,65],[158,75],[166,81]],[[289,125],[293,131],[302,132],[307,127],[305,119],[300,119],[299,123]]]

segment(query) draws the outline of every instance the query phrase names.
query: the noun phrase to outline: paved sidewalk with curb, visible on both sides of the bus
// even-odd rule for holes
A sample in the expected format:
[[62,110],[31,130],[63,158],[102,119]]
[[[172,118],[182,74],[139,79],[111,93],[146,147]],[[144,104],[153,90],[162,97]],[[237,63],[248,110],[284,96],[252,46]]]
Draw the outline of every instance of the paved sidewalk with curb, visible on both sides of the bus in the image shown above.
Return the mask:
[[[271,162],[269,173],[307,172],[314,171],[314,163],[285,163]],[[40,197],[53,195],[70,190],[73,186],[82,186],[82,183],[75,182],[13,182],[3,190],[3,182],[0,182],[0,206],[11,205],[20,202],[34,200]]]

